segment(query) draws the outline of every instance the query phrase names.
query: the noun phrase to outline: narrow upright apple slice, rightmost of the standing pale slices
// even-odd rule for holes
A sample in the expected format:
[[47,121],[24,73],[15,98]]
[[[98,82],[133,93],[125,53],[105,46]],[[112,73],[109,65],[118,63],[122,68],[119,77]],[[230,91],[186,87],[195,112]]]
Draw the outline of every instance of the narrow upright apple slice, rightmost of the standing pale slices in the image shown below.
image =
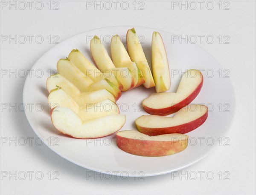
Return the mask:
[[153,32],[151,46],[151,63],[156,92],[170,89],[170,71],[163,39],[159,32]]

